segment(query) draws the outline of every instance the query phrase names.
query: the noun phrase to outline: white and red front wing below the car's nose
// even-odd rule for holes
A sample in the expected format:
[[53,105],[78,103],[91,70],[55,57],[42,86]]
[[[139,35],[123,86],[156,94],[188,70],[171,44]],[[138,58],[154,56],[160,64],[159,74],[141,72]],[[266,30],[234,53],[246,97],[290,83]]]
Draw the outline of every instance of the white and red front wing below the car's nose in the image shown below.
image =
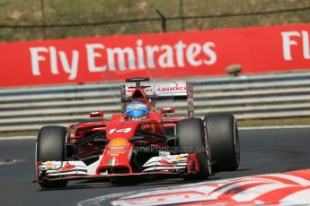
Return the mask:
[[[143,165],[142,172],[138,173],[100,173],[96,174],[102,156],[91,165],[85,165],[83,161],[45,161],[38,162],[38,181],[80,180],[80,179],[109,179],[115,176],[167,176],[185,175],[195,173],[199,168],[196,154],[161,155],[153,157]],[[111,163],[111,167],[113,167]]]

